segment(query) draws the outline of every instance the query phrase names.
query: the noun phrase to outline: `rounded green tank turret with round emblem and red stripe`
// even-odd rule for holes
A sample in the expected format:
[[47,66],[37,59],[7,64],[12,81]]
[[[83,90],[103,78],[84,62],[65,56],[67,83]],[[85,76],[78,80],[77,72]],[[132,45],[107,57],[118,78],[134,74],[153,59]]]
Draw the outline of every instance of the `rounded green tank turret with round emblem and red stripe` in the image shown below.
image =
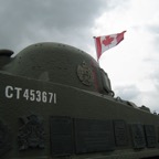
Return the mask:
[[60,43],[38,43],[22,50],[4,71],[14,75],[113,95],[107,74],[87,53]]

